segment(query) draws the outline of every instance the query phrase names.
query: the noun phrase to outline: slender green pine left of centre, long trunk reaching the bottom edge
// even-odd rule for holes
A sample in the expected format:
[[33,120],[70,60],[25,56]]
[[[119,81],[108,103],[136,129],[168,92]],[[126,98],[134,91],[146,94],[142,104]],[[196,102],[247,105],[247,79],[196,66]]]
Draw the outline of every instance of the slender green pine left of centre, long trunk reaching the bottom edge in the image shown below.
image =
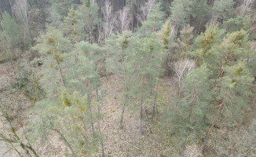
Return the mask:
[[[77,75],[73,75],[73,80],[75,78],[78,78],[77,76],[79,74],[84,73],[84,77],[81,76],[81,78],[84,78],[85,83],[80,83],[80,79],[76,82],[79,82],[79,86],[76,86],[76,89],[81,90],[81,86],[85,86],[86,90],[84,91],[86,93],[87,97],[87,106],[88,106],[88,115],[90,121],[90,125],[92,127],[93,131],[93,137],[97,139],[97,141],[100,141],[101,143],[101,155],[104,157],[104,141],[101,134],[101,103],[104,100],[104,86],[101,86],[100,82],[100,63],[102,60],[104,60],[104,54],[102,53],[102,48],[98,46],[97,44],[91,45],[88,42],[79,42],[76,47],[79,49],[79,57],[76,59],[76,63],[79,62],[78,65],[74,67],[74,69],[70,69],[70,72],[77,71]],[[71,86],[74,86],[74,82]],[[85,84],[85,85],[84,85]],[[84,89],[84,87],[82,87]],[[94,94],[93,94],[94,93]],[[101,94],[100,94],[101,93]],[[94,95],[94,96],[93,96]],[[93,97],[96,97],[96,99],[93,100]],[[97,114],[93,113],[93,108],[97,106]],[[95,116],[97,115],[97,116]],[[97,121],[98,126],[98,132],[94,128],[94,123]],[[97,133],[98,136],[97,136]]]

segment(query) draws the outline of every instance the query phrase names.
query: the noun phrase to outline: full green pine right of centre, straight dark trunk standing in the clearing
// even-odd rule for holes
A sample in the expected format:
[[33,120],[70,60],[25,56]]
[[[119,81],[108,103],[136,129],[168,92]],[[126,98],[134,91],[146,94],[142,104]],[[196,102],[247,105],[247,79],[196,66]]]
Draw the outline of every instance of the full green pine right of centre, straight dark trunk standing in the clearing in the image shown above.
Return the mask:
[[[144,105],[150,100],[150,91],[157,86],[159,75],[163,72],[161,64],[165,53],[163,45],[152,35],[151,38],[141,38],[134,43],[134,49],[130,56],[129,67],[133,74],[130,88],[131,97],[140,108],[140,133],[144,132]],[[157,94],[157,93],[155,93]],[[155,104],[153,104],[153,109]]]

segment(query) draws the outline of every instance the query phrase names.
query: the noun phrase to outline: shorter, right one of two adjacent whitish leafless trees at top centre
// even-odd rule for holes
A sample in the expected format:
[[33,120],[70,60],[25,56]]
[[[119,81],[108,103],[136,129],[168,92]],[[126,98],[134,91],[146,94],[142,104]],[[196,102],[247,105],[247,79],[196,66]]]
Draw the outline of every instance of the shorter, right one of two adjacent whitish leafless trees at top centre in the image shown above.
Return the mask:
[[116,26],[119,29],[119,32],[123,32],[129,29],[130,25],[130,13],[129,9],[126,7],[123,8],[123,10],[119,10],[117,13],[117,20],[116,20]]

